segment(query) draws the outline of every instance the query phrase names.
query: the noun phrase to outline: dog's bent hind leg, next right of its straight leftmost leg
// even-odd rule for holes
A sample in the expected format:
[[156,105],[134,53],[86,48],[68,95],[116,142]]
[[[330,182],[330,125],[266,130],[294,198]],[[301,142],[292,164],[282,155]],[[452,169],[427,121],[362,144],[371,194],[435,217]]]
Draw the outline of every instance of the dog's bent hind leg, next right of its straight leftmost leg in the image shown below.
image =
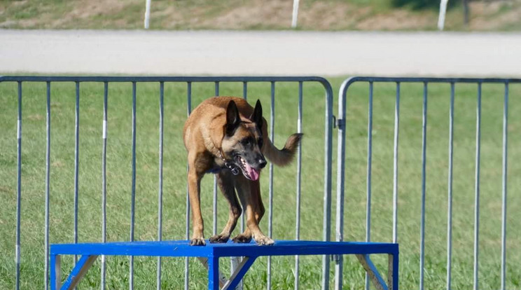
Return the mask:
[[232,231],[235,229],[235,226],[237,226],[237,219],[241,216],[242,209],[237,200],[237,195],[235,195],[235,186],[233,186],[232,178],[233,175],[230,170],[221,170],[221,172],[217,174],[217,183],[224,197],[228,200],[230,212],[228,214],[228,222],[226,226],[224,226],[223,231],[218,235],[210,237],[210,242],[228,242]]

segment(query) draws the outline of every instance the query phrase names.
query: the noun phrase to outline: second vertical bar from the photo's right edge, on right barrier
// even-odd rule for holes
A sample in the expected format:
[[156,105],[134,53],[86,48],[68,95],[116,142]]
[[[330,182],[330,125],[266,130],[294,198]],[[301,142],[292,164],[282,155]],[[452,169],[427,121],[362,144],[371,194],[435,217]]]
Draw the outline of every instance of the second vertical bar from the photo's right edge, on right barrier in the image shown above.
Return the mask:
[[478,290],[478,261],[480,234],[480,157],[481,157],[481,83],[478,83],[478,103],[475,119],[475,196],[474,196],[474,279],[473,289]]

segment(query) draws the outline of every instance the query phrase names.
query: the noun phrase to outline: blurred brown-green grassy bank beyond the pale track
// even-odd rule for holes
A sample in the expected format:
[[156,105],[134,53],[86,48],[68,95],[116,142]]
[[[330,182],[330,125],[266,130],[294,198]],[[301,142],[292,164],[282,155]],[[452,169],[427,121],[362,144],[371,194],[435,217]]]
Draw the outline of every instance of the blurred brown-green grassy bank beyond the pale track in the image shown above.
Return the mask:
[[[438,29],[437,0],[301,0],[297,29],[417,31]],[[0,1],[4,29],[142,29],[146,0]],[[150,28],[290,29],[292,0],[153,0]],[[445,30],[521,29],[520,0],[450,0]]]

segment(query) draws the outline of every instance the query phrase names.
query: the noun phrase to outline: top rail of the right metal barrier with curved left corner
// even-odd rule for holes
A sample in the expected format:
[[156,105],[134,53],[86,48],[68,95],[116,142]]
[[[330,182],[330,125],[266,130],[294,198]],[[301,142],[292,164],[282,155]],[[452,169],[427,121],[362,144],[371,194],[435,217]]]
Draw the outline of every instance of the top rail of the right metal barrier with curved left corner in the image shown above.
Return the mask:
[[347,78],[340,87],[340,95],[345,95],[350,85],[356,82],[375,83],[521,83],[521,78],[429,78],[429,77],[373,77],[353,76]]

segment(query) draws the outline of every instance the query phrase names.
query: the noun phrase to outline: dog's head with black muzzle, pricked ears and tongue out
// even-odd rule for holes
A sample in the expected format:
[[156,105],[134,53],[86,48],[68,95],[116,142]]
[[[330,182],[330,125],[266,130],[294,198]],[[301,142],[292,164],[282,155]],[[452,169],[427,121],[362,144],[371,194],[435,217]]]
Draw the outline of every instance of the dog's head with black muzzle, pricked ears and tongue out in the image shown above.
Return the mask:
[[248,120],[241,120],[235,102],[230,101],[226,109],[226,124],[221,149],[225,156],[241,169],[247,179],[257,180],[266,166],[262,153],[263,107],[257,100]]

